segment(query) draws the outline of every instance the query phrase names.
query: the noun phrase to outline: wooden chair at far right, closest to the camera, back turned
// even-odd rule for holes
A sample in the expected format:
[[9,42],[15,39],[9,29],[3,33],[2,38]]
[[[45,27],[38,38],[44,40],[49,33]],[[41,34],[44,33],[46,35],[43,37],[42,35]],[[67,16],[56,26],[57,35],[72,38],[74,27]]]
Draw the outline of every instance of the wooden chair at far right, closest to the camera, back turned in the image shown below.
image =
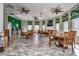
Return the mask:
[[73,46],[75,46],[75,36],[76,36],[76,31],[64,32],[63,52],[65,52],[65,47],[67,47],[68,45],[71,45],[72,52],[74,53]]

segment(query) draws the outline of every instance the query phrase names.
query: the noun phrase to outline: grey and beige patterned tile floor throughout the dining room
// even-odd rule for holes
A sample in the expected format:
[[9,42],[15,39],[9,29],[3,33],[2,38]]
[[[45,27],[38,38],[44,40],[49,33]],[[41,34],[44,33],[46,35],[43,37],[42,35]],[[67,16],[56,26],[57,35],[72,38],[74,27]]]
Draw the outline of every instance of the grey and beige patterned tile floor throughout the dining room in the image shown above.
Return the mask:
[[35,35],[32,40],[15,37],[14,44],[10,43],[9,48],[0,52],[0,56],[76,56],[72,54],[71,48],[65,53],[61,48],[52,45],[48,46],[48,37]]

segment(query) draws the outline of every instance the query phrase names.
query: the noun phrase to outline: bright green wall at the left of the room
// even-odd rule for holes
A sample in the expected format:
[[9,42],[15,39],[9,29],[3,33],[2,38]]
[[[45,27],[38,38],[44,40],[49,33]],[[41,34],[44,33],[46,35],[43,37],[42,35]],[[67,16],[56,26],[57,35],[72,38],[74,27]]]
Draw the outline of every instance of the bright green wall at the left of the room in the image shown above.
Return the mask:
[[8,22],[11,22],[12,29],[21,29],[21,20],[8,16]]

